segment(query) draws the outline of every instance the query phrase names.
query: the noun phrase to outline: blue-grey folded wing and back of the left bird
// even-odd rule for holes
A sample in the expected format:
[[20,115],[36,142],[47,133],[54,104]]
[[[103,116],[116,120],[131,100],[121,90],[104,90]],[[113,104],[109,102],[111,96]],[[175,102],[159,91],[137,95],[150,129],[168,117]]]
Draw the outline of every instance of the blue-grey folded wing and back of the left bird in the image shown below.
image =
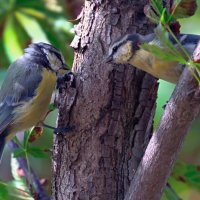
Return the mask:
[[42,80],[41,69],[24,57],[9,67],[0,90],[0,134],[15,120],[14,109],[35,95]]

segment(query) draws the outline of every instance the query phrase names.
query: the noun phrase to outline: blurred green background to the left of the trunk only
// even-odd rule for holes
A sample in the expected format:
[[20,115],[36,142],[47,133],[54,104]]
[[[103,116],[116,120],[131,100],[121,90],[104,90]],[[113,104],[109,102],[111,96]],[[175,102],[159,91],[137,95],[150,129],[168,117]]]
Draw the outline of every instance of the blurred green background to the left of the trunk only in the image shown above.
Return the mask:
[[[65,57],[66,63],[73,63],[73,50],[69,47],[73,39],[73,24],[81,11],[83,0],[0,0],[0,84],[6,69],[16,58],[22,55],[23,49],[32,42],[51,43]],[[57,113],[51,113],[47,124],[55,126]],[[41,138],[33,146],[52,148],[52,130],[45,129]],[[23,134],[18,134],[22,140]],[[0,180],[12,180],[10,151],[6,148],[0,165]],[[47,180],[50,193],[51,160],[32,158],[31,166],[41,178]],[[1,192],[1,191],[0,191]],[[2,195],[0,194],[0,199]]]

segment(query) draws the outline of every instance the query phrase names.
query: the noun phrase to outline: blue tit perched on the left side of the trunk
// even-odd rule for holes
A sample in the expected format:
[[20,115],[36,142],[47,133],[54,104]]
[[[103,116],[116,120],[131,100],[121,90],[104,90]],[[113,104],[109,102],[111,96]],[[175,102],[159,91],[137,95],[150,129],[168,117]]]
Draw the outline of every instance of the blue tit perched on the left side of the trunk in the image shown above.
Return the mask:
[[46,43],[29,45],[9,66],[0,89],[0,160],[7,140],[44,120],[60,69],[63,56]]

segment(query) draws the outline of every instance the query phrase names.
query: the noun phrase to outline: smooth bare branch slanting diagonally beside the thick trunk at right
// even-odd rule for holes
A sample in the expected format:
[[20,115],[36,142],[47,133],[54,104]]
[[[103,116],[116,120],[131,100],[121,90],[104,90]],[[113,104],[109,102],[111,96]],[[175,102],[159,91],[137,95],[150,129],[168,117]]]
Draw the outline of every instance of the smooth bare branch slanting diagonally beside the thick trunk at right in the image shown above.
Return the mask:
[[[200,52],[200,44],[195,52]],[[194,60],[198,53],[194,53]],[[200,88],[185,68],[131,182],[125,200],[160,199],[192,121],[200,110]]]

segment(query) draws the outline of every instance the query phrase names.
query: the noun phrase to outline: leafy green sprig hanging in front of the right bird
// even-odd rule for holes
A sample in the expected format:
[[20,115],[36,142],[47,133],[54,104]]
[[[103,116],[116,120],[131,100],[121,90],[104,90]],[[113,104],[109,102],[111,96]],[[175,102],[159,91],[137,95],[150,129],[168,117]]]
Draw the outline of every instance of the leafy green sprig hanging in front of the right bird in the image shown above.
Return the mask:
[[[196,0],[174,0],[172,3],[172,6],[166,5],[165,7],[162,0],[151,0],[148,9],[146,9],[146,16],[158,24],[155,34],[160,44],[143,44],[141,48],[153,53],[160,59],[177,61],[180,64],[188,66],[200,84],[199,63],[195,63],[192,60],[187,50],[185,50],[176,37],[179,34],[180,28],[179,22],[177,22],[178,17],[183,18],[193,15],[197,8]],[[177,27],[178,30],[176,29]],[[175,41],[175,44],[172,44],[171,39]],[[196,73],[193,72],[191,66],[195,67]]]

